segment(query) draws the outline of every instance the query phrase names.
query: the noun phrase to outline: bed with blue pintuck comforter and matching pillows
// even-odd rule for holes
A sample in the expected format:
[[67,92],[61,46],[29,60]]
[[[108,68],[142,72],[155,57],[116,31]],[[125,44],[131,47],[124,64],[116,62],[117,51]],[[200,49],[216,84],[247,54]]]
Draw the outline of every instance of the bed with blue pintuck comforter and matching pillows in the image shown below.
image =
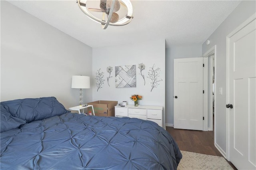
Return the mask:
[[182,154],[152,121],[70,113],[55,97],[1,102],[2,170],[175,170]]

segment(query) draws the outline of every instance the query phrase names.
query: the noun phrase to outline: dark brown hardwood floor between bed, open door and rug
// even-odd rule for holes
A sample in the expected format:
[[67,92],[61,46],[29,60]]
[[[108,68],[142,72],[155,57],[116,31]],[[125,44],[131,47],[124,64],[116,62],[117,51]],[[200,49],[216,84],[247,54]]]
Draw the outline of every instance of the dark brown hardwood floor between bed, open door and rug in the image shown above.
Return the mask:
[[[222,156],[214,146],[214,131],[185,130],[173,127],[166,127],[166,130],[172,135],[180,150]],[[237,170],[231,162],[228,163],[234,170]]]

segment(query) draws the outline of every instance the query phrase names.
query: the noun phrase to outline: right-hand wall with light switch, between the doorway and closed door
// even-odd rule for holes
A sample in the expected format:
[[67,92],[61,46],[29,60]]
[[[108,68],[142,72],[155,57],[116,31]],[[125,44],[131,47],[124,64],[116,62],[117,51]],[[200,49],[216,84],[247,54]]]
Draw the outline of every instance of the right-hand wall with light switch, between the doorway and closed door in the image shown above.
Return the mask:
[[[242,1],[202,45],[202,54],[216,45],[216,145],[226,152],[226,36],[256,12],[256,1]],[[222,95],[218,94],[222,88]]]

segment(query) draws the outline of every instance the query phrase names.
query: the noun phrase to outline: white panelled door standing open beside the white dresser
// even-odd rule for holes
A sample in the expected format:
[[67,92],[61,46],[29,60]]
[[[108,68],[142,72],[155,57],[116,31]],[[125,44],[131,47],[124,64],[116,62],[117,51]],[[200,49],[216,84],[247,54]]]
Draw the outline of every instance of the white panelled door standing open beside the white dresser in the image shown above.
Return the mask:
[[203,130],[203,58],[174,59],[174,128]]

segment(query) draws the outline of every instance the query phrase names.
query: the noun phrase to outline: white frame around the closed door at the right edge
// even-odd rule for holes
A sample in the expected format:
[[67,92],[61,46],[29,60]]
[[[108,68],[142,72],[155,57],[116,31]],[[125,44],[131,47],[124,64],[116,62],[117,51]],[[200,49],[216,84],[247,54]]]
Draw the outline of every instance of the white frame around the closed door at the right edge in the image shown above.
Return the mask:
[[[230,53],[229,53],[229,45],[230,38],[234,36],[238,31],[242,30],[245,26],[250,24],[252,21],[256,20],[256,13],[250,16],[245,22],[243,22],[240,26],[234,29],[228,36],[226,37],[226,103],[230,103],[230,88],[229,88],[229,62],[230,62]],[[216,85],[215,85],[216,87]],[[230,160],[230,109],[226,109],[226,159]],[[215,134],[214,134],[215,136]]]

